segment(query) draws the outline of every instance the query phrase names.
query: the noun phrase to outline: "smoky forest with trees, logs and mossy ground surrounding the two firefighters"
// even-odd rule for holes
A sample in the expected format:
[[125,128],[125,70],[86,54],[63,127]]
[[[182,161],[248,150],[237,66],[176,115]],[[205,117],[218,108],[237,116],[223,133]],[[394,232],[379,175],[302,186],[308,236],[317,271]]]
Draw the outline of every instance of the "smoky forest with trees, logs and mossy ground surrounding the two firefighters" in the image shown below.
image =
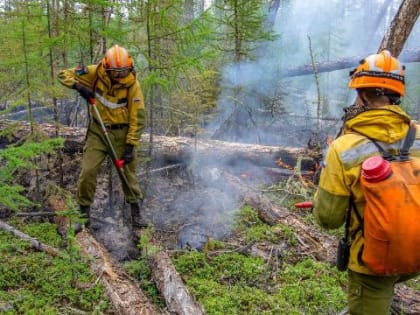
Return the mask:
[[[348,314],[344,228],[311,208],[314,175],[388,49],[420,118],[418,0],[0,1],[1,314]],[[127,49],[144,94],[137,157],[148,226],[132,230],[105,160],[76,202],[89,103],[57,80]],[[392,314],[420,313],[420,279]]]

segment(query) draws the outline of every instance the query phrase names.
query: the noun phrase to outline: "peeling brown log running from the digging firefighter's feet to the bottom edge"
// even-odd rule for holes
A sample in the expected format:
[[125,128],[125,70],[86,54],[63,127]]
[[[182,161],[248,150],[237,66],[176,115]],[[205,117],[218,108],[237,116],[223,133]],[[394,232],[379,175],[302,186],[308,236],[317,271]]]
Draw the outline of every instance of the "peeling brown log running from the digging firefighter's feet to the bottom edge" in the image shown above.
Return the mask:
[[91,269],[101,279],[105,292],[118,314],[163,314],[90,233],[82,231],[76,235],[76,239],[82,253],[89,259]]

